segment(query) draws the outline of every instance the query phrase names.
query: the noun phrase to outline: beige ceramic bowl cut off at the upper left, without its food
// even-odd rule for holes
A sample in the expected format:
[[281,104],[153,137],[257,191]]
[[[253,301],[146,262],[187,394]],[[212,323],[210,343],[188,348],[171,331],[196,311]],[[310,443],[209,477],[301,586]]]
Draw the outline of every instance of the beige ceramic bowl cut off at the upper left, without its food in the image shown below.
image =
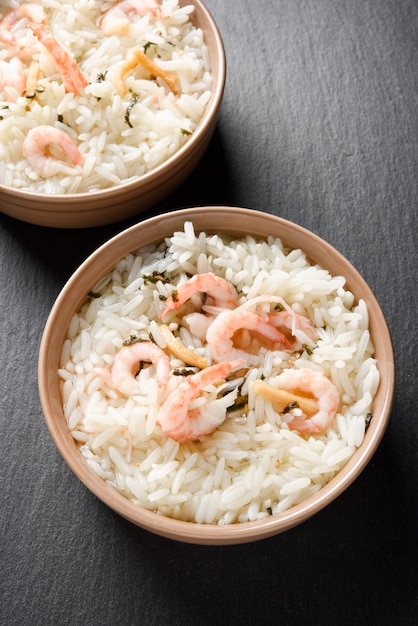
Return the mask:
[[137,181],[103,191],[45,195],[0,185],[0,211],[31,224],[56,228],[85,228],[110,224],[137,215],[177,189],[203,157],[216,126],[226,78],[223,42],[213,17],[200,0],[179,0],[193,5],[192,21],[208,46],[213,76],[212,96],[197,129],[165,163]]

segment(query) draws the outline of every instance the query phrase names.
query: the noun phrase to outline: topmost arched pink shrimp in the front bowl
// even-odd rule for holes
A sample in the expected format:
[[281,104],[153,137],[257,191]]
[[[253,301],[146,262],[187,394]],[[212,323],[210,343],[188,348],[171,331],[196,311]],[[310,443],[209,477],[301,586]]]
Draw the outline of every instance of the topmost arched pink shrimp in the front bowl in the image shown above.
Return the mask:
[[206,293],[215,306],[223,309],[234,309],[237,306],[238,294],[232,283],[212,272],[195,274],[175,291],[175,295],[167,298],[161,319],[170,311],[177,311],[196,293]]

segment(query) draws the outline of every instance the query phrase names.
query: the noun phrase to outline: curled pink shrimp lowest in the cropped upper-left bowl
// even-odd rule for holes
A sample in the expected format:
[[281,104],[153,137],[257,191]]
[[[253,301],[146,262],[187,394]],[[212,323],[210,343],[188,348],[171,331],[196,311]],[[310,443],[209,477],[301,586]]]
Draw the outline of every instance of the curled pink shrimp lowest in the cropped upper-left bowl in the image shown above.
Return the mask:
[[30,167],[43,178],[71,171],[64,160],[53,154],[54,145],[59,146],[63,155],[67,155],[73,165],[81,165],[84,161],[83,155],[64,131],[54,126],[31,128],[22,144],[23,156],[26,157]]

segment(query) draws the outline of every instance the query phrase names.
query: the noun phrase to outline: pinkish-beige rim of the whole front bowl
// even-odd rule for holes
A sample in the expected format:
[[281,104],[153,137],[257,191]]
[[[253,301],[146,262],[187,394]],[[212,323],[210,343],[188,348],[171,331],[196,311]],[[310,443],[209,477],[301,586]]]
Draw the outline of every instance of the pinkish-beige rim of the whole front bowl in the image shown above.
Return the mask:
[[[66,303],[71,301],[72,316],[73,312],[85,299],[88,289],[81,289],[81,292],[78,292],[78,294],[75,290],[79,281],[81,281],[82,284],[83,282],[85,284],[89,282],[90,288],[93,287],[101,276],[114,267],[118,260],[129,252],[137,250],[138,247],[144,245],[144,243],[141,243],[139,246],[135,244],[135,236],[141,236],[143,230],[154,233],[154,239],[150,240],[149,243],[161,241],[165,236],[169,236],[164,234],[160,235],[160,233],[163,232],[161,227],[162,219],[167,223],[164,232],[171,233],[178,229],[178,226],[183,224],[186,220],[193,221],[193,218],[196,219],[197,216],[201,216],[201,219],[205,219],[205,217],[209,219],[208,216],[210,216],[210,221],[214,224],[214,228],[208,228],[207,231],[216,232],[217,227],[215,225],[217,224],[219,226],[219,224],[222,223],[222,218],[224,218],[226,214],[233,216],[234,220],[236,220],[237,229],[241,234],[244,230],[242,227],[240,228],[241,224],[257,221],[260,229],[263,225],[269,226],[267,231],[269,233],[272,233],[272,229],[274,229],[274,236],[280,237],[284,244],[289,245],[286,241],[286,237],[280,234],[281,231],[287,232],[288,234],[289,232],[293,233],[297,238],[300,238],[301,241],[308,241],[314,248],[316,247],[317,250],[321,250],[322,254],[326,254],[328,258],[331,258],[336,263],[337,267],[342,266],[349,269],[350,277],[356,284],[355,291],[361,292],[362,298],[366,300],[368,307],[370,307],[371,303],[373,304],[375,315],[373,316],[373,320],[370,320],[370,323],[374,324],[374,328],[379,329],[376,337],[378,339],[377,344],[382,353],[379,355],[378,361],[381,377],[383,375],[381,385],[384,385],[384,387],[378,392],[379,397],[380,395],[382,397],[379,419],[371,420],[362,445],[329,483],[322,487],[316,494],[306,498],[300,504],[291,507],[283,513],[259,521],[220,526],[196,524],[156,515],[151,511],[139,507],[116,490],[107,486],[99,476],[88,468],[81,453],[79,453],[79,460],[81,462],[75,463],[73,456],[74,449],[78,450],[78,448],[68,430],[62,406],[60,406],[57,398],[53,398],[49,394],[51,385],[55,384],[57,386],[58,384],[58,374],[56,371],[58,364],[54,370],[54,379],[54,374],[51,374],[48,363],[50,363],[51,346],[54,345],[54,342],[60,340],[60,333],[57,334],[56,329],[57,322],[58,328],[60,327],[59,319],[62,319],[63,307],[65,308]],[[198,227],[197,231],[200,230],[206,229]],[[218,228],[218,230],[220,232],[234,234],[231,228],[227,228],[224,231]],[[266,231],[264,230],[264,232]],[[295,246],[291,245],[290,247],[295,248]],[[304,250],[302,244],[300,248]],[[109,255],[106,267],[102,268],[100,274],[95,275],[93,279],[89,279],[88,281],[86,278],[88,273],[94,270],[98,259],[104,254]],[[306,254],[311,260],[313,259],[315,261],[315,257],[311,254]],[[328,268],[325,267],[325,269]],[[338,274],[338,272],[330,273],[333,275]],[[347,285],[347,288],[350,289],[350,285]],[[69,319],[67,322],[68,321]],[[68,326],[66,324],[61,325],[61,340],[64,339],[64,333],[67,328]],[[373,333],[371,334],[375,337]],[[376,342],[375,348],[377,348]],[[44,419],[55,445],[73,473],[90,491],[102,500],[102,502],[133,524],[169,539],[202,545],[227,545],[264,539],[302,523],[319,512],[326,505],[330,504],[351,485],[374,455],[389,422],[394,396],[394,386],[395,359],[386,319],[371,288],[351,262],[324,239],[294,222],[254,209],[228,206],[197,206],[157,214],[151,218],[137,222],[99,246],[81,263],[78,269],[75,270],[56,298],[44,328],[38,359],[38,388]],[[87,472],[86,469],[88,470]],[[106,487],[106,489],[103,489],[103,487]]]

